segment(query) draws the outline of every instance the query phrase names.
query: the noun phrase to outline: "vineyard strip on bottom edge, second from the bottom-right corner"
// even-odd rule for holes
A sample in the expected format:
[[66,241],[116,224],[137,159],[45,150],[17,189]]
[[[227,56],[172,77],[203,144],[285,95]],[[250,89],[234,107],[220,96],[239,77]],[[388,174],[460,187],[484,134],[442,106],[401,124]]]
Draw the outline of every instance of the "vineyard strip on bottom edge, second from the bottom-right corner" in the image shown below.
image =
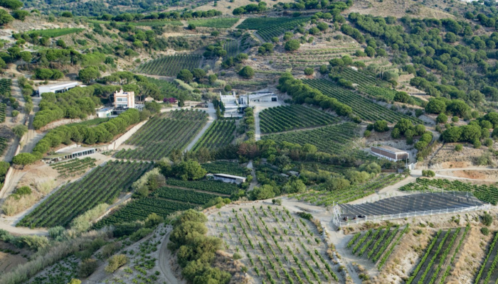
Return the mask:
[[438,231],[406,283],[444,283],[469,229],[470,226]]

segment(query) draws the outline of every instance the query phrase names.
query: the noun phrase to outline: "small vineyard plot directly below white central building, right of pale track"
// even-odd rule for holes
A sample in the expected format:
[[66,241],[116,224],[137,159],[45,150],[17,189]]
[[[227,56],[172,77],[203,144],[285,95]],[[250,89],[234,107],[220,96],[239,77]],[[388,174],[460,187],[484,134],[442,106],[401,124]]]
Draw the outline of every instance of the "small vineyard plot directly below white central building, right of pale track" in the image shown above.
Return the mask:
[[216,150],[227,146],[235,139],[235,121],[234,120],[217,120],[214,121],[197,141],[193,151],[200,148],[208,148],[208,150]]

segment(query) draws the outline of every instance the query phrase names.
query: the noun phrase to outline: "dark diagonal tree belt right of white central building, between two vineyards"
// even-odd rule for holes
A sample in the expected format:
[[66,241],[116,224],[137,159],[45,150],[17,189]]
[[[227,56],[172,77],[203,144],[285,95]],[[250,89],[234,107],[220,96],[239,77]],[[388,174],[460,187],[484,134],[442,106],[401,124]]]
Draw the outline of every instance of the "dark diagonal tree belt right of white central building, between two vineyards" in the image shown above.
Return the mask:
[[290,72],[285,72],[278,80],[277,88],[281,92],[287,92],[296,104],[313,104],[322,109],[332,109],[340,116],[349,116],[353,110],[346,104],[342,104],[337,99],[327,97],[318,89],[309,87],[300,80],[294,79]]

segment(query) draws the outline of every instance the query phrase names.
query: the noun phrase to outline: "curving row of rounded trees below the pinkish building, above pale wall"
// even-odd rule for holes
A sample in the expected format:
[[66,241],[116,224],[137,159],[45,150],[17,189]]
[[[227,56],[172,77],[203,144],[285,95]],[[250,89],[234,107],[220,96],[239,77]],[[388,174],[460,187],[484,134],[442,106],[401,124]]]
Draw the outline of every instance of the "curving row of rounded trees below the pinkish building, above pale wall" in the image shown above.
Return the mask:
[[79,124],[55,127],[36,143],[33,153],[20,153],[14,157],[12,162],[16,165],[29,165],[43,158],[45,153],[48,153],[51,148],[60,146],[61,143],[70,145],[75,142],[92,145],[110,142],[117,134],[124,133],[129,126],[144,119],[139,112],[137,109],[128,109],[114,119],[93,127]]

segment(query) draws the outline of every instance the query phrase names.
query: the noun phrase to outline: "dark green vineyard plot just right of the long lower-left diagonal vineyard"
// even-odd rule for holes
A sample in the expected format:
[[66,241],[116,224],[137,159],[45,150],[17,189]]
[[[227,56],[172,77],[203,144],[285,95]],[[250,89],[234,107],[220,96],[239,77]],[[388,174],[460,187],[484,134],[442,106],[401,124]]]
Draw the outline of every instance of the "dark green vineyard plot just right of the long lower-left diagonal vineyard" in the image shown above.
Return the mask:
[[171,200],[161,200],[157,197],[144,197],[127,203],[124,207],[110,214],[95,224],[95,229],[124,222],[144,220],[149,214],[156,213],[166,218],[169,214],[194,208],[194,205]]

